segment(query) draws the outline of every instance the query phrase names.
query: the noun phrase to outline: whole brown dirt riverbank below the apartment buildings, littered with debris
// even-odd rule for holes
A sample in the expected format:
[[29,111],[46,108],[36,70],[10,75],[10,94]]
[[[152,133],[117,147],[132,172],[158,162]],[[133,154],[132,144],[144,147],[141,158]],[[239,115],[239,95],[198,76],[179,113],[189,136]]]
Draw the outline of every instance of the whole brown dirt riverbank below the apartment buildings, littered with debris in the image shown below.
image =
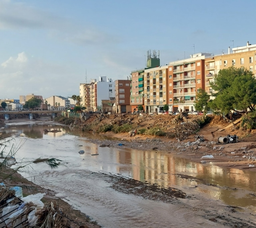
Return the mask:
[[[247,132],[240,128],[240,119],[223,120],[220,116],[210,116],[209,123],[201,127],[202,118],[194,115],[91,115],[87,120],[76,120],[71,128],[120,139],[91,139],[91,142],[101,146],[122,145],[139,150],[155,150],[198,163],[212,162],[222,167],[256,171],[255,130]],[[135,129],[136,134],[130,137],[127,131]],[[237,135],[238,142],[218,143],[220,136],[228,135]],[[202,158],[207,155],[213,158]]]

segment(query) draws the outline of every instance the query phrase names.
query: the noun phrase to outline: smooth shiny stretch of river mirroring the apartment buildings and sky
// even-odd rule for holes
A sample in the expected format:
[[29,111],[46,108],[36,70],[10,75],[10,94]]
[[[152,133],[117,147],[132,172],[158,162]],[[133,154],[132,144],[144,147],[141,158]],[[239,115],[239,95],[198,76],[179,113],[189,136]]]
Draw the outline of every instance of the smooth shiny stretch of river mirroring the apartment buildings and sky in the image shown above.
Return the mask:
[[[49,132],[44,135],[44,129],[61,130],[61,132]],[[157,183],[164,187],[193,187],[197,185],[198,192],[214,199],[221,199],[227,204],[239,206],[256,204],[255,197],[249,195],[249,193],[256,191],[255,172],[223,169],[211,164],[194,163],[187,159],[173,158],[170,154],[155,151],[138,151],[122,147],[99,147],[96,144],[89,143],[84,138],[77,137],[82,133],[71,132],[68,127],[52,124],[7,125],[4,131],[16,135],[25,134],[30,138],[21,149],[21,153],[19,152],[20,159],[25,157],[30,160],[41,156],[54,156],[67,161],[70,171],[72,169],[88,169],[120,173],[136,180]],[[51,141],[49,141],[50,139]],[[36,148],[36,154],[34,148]],[[85,154],[79,155],[78,151],[80,150],[84,150]],[[99,155],[91,156],[92,154]],[[42,169],[41,171],[47,170],[43,166],[40,169]],[[66,167],[59,170],[65,169]],[[206,184],[214,186],[209,187],[195,179],[181,178],[175,175],[177,173],[205,180]],[[48,176],[48,178],[54,179],[54,176]],[[244,191],[241,192],[241,189],[244,189]]]

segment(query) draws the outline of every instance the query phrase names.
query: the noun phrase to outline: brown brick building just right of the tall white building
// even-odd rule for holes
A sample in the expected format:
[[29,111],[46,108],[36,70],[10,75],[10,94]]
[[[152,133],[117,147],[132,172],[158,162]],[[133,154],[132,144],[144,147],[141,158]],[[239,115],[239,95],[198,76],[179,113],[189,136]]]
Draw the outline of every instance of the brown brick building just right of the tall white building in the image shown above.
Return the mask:
[[130,106],[130,79],[115,80],[115,112],[132,111]]

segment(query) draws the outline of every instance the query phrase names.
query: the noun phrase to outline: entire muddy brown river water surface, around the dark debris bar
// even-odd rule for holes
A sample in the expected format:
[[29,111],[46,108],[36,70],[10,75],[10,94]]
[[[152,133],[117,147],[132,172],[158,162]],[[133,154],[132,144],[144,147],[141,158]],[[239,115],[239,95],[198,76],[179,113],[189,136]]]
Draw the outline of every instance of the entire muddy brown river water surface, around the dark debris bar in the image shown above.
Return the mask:
[[[36,123],[10,123],[2,130],[12,133],[16,144],[24,143],[15,156],[17,161],[54,157],[62,160],[64,166],[50,170],[44,164],[37,164],[21,174],[58,192],[59,197],[103,227],[233,227],[230,225],[233,220],[216,226],[214,219],[221,219],[218,218],[221,214],[227,221],[228,216],[233,216],[233,219],[251,221],[248,227],[255,227],[255,172],[193,163],[153,150],[99,147],[88,140],[99,136],[72,132],[51,122]],[[44,129],[61,132],[45,134]],[[79,154],[80,150],[85,153]],[[108,177],[102,173],[175,187],[191,198],[172,204],[124,194],[110,188]],[[230,207],[237,208],[236,215],[229,214]]]

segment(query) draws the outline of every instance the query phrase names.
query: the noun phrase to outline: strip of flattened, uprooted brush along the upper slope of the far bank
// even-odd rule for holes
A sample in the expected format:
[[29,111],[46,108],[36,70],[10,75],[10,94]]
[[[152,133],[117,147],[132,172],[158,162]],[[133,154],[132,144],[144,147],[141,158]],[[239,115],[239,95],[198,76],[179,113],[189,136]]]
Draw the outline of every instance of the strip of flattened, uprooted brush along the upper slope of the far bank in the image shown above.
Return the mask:
[[164,136],[184,140],[189,135],[196,134],[209,121],[209,116],[187,116],[184,113],[175,116],[100,114],[92,115],[87,120],[76,123],[76,128],[98,134],[108,131],[116,134],[128,133],[136,129],[137,134],[141,135]]

